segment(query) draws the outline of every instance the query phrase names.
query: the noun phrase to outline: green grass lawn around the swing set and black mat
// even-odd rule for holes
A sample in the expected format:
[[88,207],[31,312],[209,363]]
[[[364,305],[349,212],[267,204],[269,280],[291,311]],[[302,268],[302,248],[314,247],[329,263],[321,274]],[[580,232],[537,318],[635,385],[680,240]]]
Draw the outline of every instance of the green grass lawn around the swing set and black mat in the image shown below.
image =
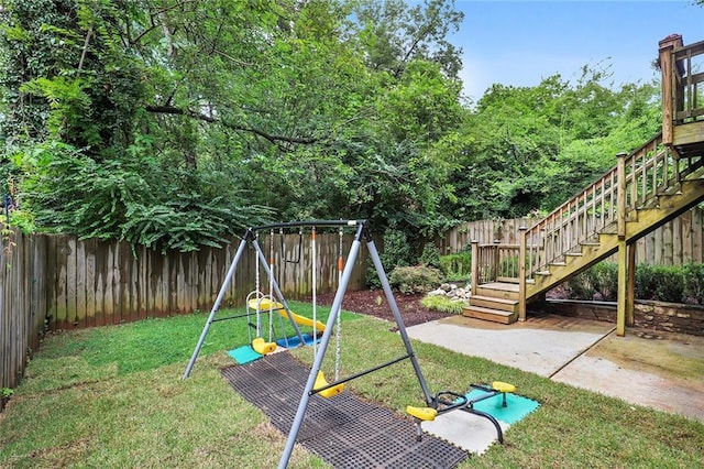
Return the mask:
[[[292,302],[310,316],[310,306]],[[318,308],[322,320],[327,308]],[[224,312],[222,313],[224,314]],[[0,414],[0,467],[276,467],[285,435],[232,391],[226,350],[248,342],[244,320],[215,323],[191,377],[180,380],[207,314],[54,334]],[[404,355],[389,323],[343,314],[342,375]],[[704,425],[532,373],[414,342],[432,392],[507,381],[539,410],[461,468],[690,468],[704,454]],[[323,364],[333,370],[334,342]],[[309,348],[294,355],[312,361]],[[403,414],[422,405],[410,363],[348,389]],[[302,449],[289,467],[328,467]]]

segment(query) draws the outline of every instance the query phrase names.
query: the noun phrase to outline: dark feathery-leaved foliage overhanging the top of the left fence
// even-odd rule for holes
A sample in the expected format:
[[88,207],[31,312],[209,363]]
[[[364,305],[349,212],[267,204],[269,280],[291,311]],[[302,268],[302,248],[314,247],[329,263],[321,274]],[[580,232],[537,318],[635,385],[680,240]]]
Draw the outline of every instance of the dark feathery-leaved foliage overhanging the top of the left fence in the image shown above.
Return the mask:
[[37,207],[33,222],[51,232],[193,251],[224,243],[227,236],[266,214],[237,200],[232,192],[229,198],[205,199],[197,189],[222,183],[217,173],[194,176],[150,160],[99,164],[57,142],[15,159],[32,168],[22,204]]

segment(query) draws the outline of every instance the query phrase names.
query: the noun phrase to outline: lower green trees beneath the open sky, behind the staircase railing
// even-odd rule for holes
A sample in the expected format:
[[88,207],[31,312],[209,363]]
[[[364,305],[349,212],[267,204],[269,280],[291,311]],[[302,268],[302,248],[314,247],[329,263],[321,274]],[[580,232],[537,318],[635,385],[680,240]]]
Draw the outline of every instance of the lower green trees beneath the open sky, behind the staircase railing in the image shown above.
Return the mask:
[[463,219],[550,211],[659,129],[653,85],[612,90],[588,70],[537,87],[494,85],[450,145],[462,170],[451,184]]

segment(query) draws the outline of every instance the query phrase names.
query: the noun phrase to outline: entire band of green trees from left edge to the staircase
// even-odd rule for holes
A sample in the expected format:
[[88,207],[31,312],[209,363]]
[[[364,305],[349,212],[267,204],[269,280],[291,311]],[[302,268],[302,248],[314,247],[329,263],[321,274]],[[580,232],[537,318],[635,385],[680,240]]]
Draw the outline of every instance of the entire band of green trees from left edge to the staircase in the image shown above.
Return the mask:
[[468,108],[453,1],[182,7],[4,1],[0,165],[24,229],[191,250],[365,218],[405,233],[393,269],[458,219],[550,210],[659,127],[656,88],[607,68]]

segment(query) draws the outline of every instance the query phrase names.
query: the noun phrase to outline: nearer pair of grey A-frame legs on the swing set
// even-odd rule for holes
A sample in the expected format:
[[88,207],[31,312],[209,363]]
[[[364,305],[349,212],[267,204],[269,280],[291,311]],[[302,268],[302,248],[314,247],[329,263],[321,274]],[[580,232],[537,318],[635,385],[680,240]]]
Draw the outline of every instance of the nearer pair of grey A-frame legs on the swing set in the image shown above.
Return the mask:
[[328,324],[326,325],[326,330],[322,335],[322,339],[320,340],[318,352],[316,353],[316,357],[314,359],[314,364],[310,369],[308,381],[306,382],[306,386],[304,388],[300,402],[298,403],[298,410],[296,411],[294,423],[292,424],[290,432],[288,433],[288,439],[286,440],[286,446],[284,448],[284,454],[282,455],[282,459],[278,462],[278,469],[285,469],[288,466],[288,460],[290,459],[290,455],[294,450],[294,445],[296,444],[296,437],[298,436],[298,432],[300,429],[300,426],[302,425],[304,417],[306,415],[306,410],[308,407],[308,403],[310,402],[310,396],[312,395],[312,389],[316,382],[316,378],[318,375],[318,371],[320,371],[320,368],[322,366],[322,360],[324,358],[326,350],[328,348],[328,343],[330,342],[330,336],[332,335],[334,321],[337,320],[338,315],[340,314],[340,309],[342,307],[342,299],[344,297],[344,293],[350,282],[350,277],[352,276],[352,270],[354,269],[354,262],[360,252],[360,247],[362,244],[361,239],[363,234],[366,237],[366,246],[370,252],[370,257],[372,258],[372,261],[374,262],[374,266],[376,268],[376,272],[378,274],[380,281],[382,282],[382,287],[384,288],[386,299],[388,302],[388,305],[392,308],[394,318],[396,319],[396,326],[398,327],[398,331],[406,347],[406,351],[414,366],[416,377],[418,378],[418,381],[422,389],[426,401],[430,403],[432,400],[432,395],[428,390],[428,385],[422,375],[422,372],[420,371],[420,366],[418,364],[418,360],[416,359],[415,352],[413,350],[410,339],[408,338],[408,334],[406,332],[406,326],[404,325],[404,319],[400,316],[398,305],[396,304],[396,298],[394,298],[394,294],[392,293],[388,279],[386,277],[386,273],[384,272],[384,268],[378,257],[378,252],[376,251],[376,247],[374,246],[374,241],[372,240],[369,232],[365,231],[364,225],[361,225],[358,228],[356,236],[354,237],[354,241],[352,242],[350,253],[348,254],[348,260],[346,260],[346,263],[344,264],[344,270],[340,279],[340,284],[338,285],[338,291],[332,302],[330,316],[328,316]]

